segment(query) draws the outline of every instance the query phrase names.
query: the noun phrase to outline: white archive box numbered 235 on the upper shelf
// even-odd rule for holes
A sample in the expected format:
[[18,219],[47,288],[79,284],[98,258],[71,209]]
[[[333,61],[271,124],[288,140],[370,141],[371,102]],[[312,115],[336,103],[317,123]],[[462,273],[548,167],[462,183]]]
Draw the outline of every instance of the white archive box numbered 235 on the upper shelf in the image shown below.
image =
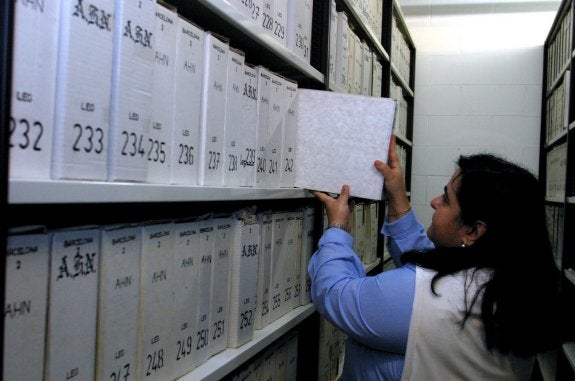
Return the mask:
[[171,181],[174,79],[176,76],[176,9],[156,4],[155,60],[152,84],[152,128],[148,147],[148,182]]

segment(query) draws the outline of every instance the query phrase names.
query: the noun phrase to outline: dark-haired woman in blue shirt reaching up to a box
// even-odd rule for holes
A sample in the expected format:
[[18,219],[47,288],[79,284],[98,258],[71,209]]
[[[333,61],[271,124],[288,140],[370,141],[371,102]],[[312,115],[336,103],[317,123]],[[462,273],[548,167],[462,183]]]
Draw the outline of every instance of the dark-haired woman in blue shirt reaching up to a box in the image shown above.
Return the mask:
[[417,222],[392,139],[382,233],[397,268],[366,276],[349,231],[349,187],[313,192],[329,226],[308,271],[317,310],[349,337],[343,380],[528,380],[557,345],[558,271],[543,193],[523,168],[462,156],[431,225]]

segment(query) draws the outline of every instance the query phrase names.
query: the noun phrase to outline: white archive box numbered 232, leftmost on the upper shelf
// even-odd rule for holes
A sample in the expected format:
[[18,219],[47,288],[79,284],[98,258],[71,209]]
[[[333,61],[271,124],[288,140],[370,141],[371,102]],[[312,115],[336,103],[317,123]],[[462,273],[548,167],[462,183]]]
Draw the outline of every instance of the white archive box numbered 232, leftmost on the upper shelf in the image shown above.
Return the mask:
[[61,2],[39,4],[14,3],[12,178],[50,178]]

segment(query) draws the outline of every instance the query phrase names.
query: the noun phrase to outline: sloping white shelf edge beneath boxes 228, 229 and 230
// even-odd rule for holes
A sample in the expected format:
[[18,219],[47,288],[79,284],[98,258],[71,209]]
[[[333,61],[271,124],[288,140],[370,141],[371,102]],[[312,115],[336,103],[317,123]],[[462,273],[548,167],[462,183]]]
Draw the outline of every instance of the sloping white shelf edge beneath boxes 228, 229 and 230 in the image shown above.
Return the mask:
[[[229,1],[226,0],[198,0],[198,4],[207,8],[210,12],[211,22],[213,21],[213,16],[219,17],[221,20],[232,26],[234,29],[243,34],[247,39],[251,40],[252,43],[255,42],[256,45],[260,47],[258,53],[263,53],[261,47],[267,49],[270,54],[276,57],[277,62],[281,62],[282,66],[291,66],[299,71],[304,76],[314,79],[317,82],[324,83],[325,76],[309,63],[304,61],[285,45],[277,41],[271,34],[267,33],[264,29],[260,28],[251,19],[246,17],[243,13],[237,10],[235,7],[231,6]],[[192,2],[182,2],[178,5],[179,8],[194,7]],[[190,12],[192,15],[196,15],[197,12],[192,10]],[[215,22],[216,26],[222,28],[222,23]],[[218,29],[219,29],[218,28]],[[234,39],[240,39],[236,31],[228,31],[225,35],[226,38],[230,38],[232,43]],[[277,68],[271,67],[271,70],[278,70]]]

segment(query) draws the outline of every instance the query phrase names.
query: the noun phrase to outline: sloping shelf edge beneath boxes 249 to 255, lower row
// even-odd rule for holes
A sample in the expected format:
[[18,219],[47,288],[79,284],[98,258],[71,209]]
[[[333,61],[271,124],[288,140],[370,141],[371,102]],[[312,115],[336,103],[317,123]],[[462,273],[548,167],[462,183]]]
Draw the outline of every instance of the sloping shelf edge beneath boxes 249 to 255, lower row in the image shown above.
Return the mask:
[[279,339],[284,333],[297,326],[315,312],[310,303],[300,306],[261,330],[254,331],[254,337],[239,348],[228,348],[208,359],[196,369],[177,379],[178,381],[221,380],[228,373],[248,361],[259,351]]

